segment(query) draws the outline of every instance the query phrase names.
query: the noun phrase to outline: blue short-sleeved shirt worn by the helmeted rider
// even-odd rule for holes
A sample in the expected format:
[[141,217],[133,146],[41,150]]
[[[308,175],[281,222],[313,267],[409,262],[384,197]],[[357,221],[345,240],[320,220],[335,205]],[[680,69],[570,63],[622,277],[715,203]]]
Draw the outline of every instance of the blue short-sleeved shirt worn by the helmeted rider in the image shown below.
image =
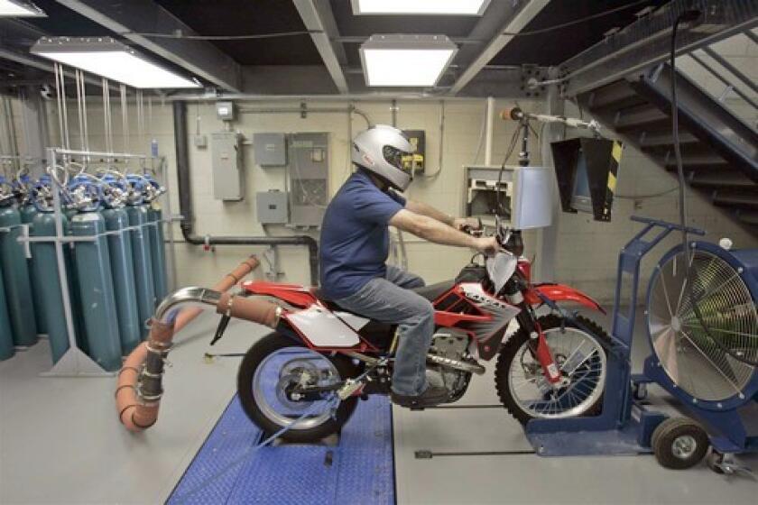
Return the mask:
[[358,170],[332,198],[321,225],[321,289],[345,298],[366,282],[384,277],[390,249],[387,224],[405,198],[377,188]]

